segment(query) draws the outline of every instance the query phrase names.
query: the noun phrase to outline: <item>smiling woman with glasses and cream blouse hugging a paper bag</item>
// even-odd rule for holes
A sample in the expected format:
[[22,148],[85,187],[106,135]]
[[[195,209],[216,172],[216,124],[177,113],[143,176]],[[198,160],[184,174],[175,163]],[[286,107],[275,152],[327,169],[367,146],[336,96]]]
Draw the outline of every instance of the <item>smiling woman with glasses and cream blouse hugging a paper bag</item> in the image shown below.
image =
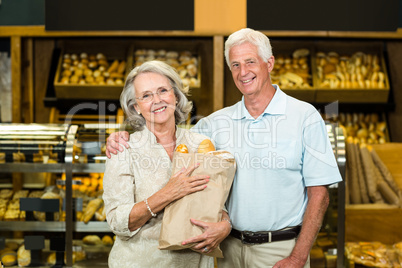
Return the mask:
[[[214,265],[213,258],[201,252],[209,252],[220,241],[209,239],[194,250],[158,249],[163,209],[185,195],[205,189],[209,178],[191,175],[197,164],[171,174],[176,146],[184,143],[196,151],[207,138],[176,127],[192,107],[184,93],[177,72],[163,62],[146,62],[127,77],[120,103],[135,132],[130,135],[130,148],[106,161],[103,178],[107,222],[116,234],[109,267]],[[211,237],[211,230],[230,232],[227,225],[222,228],[224,224],[220,229],[210,224],[204,228],[210,229]]]

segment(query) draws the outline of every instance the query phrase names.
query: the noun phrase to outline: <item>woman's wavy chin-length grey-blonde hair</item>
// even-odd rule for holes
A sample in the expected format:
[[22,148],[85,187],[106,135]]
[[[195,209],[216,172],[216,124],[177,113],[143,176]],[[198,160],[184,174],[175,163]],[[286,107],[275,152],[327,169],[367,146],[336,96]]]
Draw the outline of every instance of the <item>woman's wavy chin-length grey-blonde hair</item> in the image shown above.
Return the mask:
[[183,87],[177,71],[170,65],[162,61],[148,61],[135,67],[127,75],[123,91],[120,95],[120,105],[126,115],[126,122],[131,125],[134,131],[142,130],[145,125],[145,118],[138,114],[134,108],[137,104],[135,97],[134,80],[141,73],[157,73],[165,76],[174,90],[176,96],[176,110],[174,112],[176,124],[180,124],[187,119],[193,104],[187,99],[188,87]]

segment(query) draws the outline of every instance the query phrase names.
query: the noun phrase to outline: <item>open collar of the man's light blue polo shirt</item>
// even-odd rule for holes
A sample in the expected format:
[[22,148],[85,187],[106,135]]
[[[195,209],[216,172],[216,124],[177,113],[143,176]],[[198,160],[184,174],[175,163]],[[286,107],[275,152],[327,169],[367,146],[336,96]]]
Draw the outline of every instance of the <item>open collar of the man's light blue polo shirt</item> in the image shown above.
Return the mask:
[[[262,116],[265,114],[285,114],[286,112],[286,93],[283,92],[278,85],[273,85],[274,88],[276,89],[276,92],[271,100],[271,102],[268,104],[267,108],[265,108],[265,111],[262,113]],[[244,103],[244,96],[241,98],[241,102],[239,105],[234,106],[234,111],[232,114],[233,119],[254,119],[250,113],[248,112],[246,105]]]

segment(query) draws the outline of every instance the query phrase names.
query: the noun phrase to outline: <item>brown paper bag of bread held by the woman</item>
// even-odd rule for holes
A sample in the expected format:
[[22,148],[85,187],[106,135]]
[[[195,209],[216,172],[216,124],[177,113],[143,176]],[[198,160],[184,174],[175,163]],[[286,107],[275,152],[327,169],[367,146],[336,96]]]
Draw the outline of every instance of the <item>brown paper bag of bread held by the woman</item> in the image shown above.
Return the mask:
[[[208,186],[202,191],[187,195],[166,206],[159,237],[159,249],[180,250],[194,246],[194,244],[181,244],[184,240],[203,233],[201,227],[190,222],[191,218],[205,222],[218,222],[222,218],[222,209],[236,171],[234,157],[226,151],[208,154],[175,152],[172,174],[194,163],[200,163],[200,166],[192,175],[209,175]],[[205,255],[223,258],[219,246]]]

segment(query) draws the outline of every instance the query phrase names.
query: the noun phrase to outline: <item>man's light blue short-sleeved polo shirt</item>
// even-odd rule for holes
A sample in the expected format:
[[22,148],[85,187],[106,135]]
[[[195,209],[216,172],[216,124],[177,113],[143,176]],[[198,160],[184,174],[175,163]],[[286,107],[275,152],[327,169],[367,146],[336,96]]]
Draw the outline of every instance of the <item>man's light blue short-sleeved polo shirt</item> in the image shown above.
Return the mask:
[[244,98],[201,119],[192,131],[235,156],[237,171],[227,200],[233,228],[274,231],[300,225],[308,186],[342,180],[325,123],[310,104],[276,92],[254,119]]

